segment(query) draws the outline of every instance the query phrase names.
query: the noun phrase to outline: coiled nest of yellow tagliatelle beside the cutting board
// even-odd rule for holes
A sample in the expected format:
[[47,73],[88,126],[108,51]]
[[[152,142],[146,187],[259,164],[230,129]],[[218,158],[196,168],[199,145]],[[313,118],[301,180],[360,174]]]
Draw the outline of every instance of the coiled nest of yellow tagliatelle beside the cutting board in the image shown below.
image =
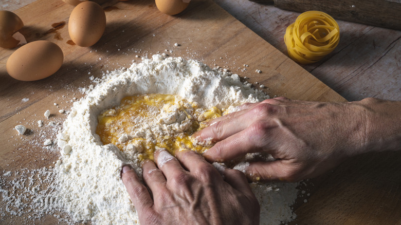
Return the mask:
[[340,41],[340,29],[333,17],[320,11],[307,11],[285,31],[284,42],[291,59],[315,63],[332,52]]

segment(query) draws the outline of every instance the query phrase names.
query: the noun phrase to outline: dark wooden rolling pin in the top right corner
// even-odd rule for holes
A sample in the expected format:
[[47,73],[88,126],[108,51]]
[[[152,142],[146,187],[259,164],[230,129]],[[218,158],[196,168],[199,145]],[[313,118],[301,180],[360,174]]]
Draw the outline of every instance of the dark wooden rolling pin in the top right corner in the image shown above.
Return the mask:
[[[296,12],[317,10],[334,18],[401,30],[401,3],[386,0],[249,0]],[[396,1],[396,0],[393,0]]]

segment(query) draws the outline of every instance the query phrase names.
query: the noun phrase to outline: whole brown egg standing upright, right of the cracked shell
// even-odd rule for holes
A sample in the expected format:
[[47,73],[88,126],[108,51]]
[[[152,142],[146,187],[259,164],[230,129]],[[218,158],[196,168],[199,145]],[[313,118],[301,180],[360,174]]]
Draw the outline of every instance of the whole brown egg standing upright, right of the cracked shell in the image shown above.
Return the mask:
[[71,12],[68,33],[71,40],[82,47],[94,45],[106,28],[106,15],[99,4],[82,2]]

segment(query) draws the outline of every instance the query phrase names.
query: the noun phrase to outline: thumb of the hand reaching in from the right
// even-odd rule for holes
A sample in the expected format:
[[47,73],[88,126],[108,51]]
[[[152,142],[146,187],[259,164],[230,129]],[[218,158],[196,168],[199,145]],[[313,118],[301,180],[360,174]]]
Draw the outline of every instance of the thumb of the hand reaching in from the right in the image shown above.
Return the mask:
[[250,162],[245,169],[245,174],[252,181],[288,181],[297,182],[302,177],[297,166],[290,164],[288,160],[276,160],[271,162]]

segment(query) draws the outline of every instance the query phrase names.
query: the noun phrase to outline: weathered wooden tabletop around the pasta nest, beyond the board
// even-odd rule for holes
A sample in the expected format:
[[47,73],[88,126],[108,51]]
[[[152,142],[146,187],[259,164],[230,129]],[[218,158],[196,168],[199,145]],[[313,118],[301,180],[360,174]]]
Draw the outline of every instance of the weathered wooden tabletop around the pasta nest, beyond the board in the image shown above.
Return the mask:
[[[214,1],[287,55],[285,29],[300,13],[243,0]],[[340,43],[334,52],[301,66],[348,101],[368,97],[401,101],[401,31],[337,22]]]

